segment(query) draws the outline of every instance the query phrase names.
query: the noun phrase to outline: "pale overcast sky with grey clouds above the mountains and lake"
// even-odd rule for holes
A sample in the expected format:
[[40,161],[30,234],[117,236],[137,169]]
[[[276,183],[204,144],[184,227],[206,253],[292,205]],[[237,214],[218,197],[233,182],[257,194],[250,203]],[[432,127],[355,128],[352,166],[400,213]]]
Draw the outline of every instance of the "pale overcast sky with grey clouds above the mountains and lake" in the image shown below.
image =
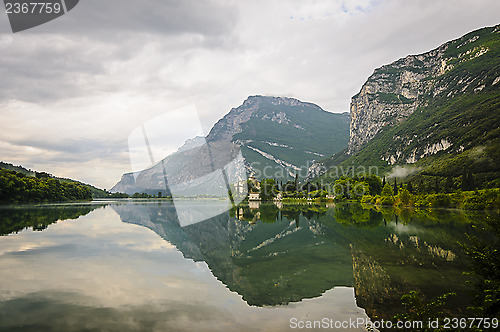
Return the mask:
[[0,160],[111,188],[128,136],[249,95],[348,112],[373,70],[500,23],[498,0],[81,0],[13,34],[0,13]]

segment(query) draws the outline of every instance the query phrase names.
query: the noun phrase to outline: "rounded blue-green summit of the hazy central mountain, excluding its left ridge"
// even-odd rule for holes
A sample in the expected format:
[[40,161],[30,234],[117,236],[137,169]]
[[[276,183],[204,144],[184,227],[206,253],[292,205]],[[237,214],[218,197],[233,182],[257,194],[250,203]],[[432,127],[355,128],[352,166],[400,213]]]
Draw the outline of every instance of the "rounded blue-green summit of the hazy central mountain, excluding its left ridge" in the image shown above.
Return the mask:
[[314,160],[345,148],[348,121],[346,113],[297,99],[252,96],[217,122],[207,140],[231,140],[258,178],[288,178],[305,175]]

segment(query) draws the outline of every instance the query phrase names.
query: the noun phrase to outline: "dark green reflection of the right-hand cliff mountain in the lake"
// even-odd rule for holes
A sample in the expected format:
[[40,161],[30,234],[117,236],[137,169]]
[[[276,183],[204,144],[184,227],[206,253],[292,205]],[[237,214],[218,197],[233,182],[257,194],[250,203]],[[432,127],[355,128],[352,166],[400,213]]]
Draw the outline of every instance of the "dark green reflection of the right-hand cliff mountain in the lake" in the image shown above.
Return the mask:
[[455,292],[448,314],[464,313],[473,289],[464,275],[469,260],[461,243],[478,235],[473,224],[489,217],[484,211],[341,204],[320,222],[350,242],[358,305],[371,317],[391,318],[401,312],[401,296],[411,290],[427,299]]

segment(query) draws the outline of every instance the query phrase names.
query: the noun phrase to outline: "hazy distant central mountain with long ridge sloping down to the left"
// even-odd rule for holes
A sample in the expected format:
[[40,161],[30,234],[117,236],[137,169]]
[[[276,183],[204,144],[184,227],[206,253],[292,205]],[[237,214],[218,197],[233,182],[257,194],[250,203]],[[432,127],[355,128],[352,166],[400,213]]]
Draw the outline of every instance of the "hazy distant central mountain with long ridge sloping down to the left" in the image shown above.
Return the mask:
[[220,119],[206,138],[187,141],[146,170],[124,174],[111,191],[168,194],[176,186],[183,195],[224,195],[225,177],[234,177],[229,183],[238,181],[234,174],[241,172],[235,172],[240,164],[257,178],[303,178],[315,160],[347,146],[348,127],[347,113],[326,112],[293,98],[251,96]]

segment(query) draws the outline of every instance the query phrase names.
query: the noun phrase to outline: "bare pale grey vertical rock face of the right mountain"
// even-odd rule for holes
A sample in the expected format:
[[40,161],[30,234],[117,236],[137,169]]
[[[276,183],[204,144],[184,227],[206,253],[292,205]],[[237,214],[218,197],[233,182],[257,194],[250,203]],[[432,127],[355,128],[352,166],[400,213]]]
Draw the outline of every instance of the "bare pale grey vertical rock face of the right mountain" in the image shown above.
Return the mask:
[[425,99],[419,97],[434,88],[429,78],[449,69],[443,58],[447,48],[448,44],[443,44],[433,51],[410,55],[375,70],[351,100],[349,154],[359,150],[385,126],[404,121],[425,104]]

